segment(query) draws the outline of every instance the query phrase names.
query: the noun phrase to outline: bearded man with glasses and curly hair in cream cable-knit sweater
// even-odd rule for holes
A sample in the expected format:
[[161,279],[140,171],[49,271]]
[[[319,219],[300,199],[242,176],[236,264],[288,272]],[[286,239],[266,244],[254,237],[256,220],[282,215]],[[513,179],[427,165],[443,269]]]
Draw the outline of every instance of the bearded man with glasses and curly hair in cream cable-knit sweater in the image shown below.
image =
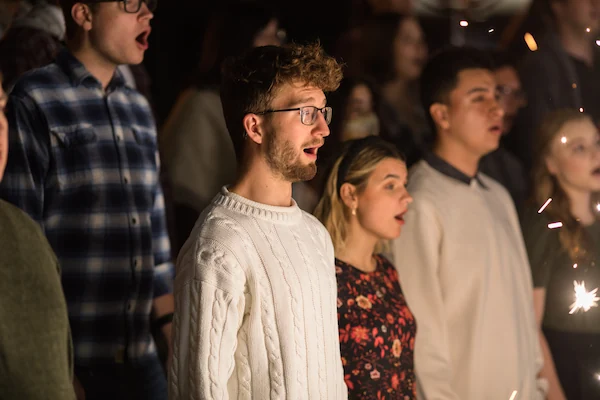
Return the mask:
[[170,399],[345,399],[325,228],[292,200],[329,135],[342,73],[318,45],[231,60],[221,100],[239,161],[179,254]]

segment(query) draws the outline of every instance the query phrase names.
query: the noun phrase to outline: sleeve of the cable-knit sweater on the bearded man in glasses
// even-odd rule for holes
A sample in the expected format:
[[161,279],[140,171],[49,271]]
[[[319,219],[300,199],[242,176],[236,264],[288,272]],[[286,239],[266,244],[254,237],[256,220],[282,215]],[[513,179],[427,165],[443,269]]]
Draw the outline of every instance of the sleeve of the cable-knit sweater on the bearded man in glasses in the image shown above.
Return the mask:
[[230,397],[245,274],[231,252],[205,242],[177,267],[170,399]]

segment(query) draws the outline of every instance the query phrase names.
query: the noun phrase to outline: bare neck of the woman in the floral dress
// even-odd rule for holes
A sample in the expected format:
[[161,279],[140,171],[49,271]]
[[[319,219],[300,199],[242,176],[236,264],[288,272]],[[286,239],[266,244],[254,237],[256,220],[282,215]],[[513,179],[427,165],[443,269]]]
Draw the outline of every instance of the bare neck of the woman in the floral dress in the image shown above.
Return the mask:
[[373,272],[377,268],[373,254],[378,240],[358,226],[356,217],[351,218],[344,248],[336,253],[336,258],[360,271]]

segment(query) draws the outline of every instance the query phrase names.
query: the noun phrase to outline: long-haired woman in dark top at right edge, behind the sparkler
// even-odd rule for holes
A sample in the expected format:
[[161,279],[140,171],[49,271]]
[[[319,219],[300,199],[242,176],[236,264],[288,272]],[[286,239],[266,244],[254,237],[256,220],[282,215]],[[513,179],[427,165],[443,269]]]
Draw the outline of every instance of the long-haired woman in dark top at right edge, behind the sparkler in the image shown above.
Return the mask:
[[[524,212],[522,225],[548,399],[597,400],[600,309],[577,307],[574,283],[584,284],[586,292],[600,287],[600,135],[589,116],[559,110],[542,123],[536,140],[535,204]],[[550,229],[554,222],[562,227]]]

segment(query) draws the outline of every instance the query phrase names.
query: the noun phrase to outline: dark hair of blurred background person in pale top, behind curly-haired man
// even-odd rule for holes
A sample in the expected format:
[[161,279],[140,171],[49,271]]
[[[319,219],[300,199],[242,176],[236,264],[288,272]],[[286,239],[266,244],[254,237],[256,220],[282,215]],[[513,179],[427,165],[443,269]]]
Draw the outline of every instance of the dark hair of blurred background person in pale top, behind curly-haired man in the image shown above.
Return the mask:
[[278,19],[272,8],[254,3],[229,5],[210,19],[202,41],[200,61],[192,84],[215,86],[221,81],[221,64],[253,47],[256,35]]

